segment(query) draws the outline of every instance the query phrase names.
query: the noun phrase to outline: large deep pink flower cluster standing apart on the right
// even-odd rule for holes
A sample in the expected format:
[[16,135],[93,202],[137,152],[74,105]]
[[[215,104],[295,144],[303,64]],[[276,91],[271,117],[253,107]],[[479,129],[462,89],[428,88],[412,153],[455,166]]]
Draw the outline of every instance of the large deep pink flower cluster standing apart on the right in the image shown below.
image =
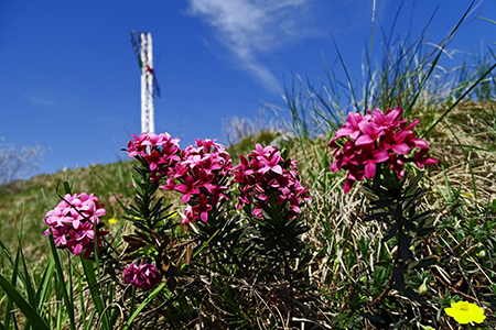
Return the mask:
[[[356,180],[364,177],[373,179],[376,164],[386,163],[398,178],[405,176],[405,163],[416,163],[419,168],[425,164],[438,163],[427,156],[428,143],[417,139],[413,132],[419,120],[407,125],[402,117],[403,109],[387,109],[386,113],[374,110],[362,113],[348,113],[346,123],[337,130],[328,146],[334,148],[336,161],[331,165],[332,172],[348,169],[344,191],[348,193]],[[417,150],[418,148],[418,150]],[[412,156],[408,154],[413,152]]]

